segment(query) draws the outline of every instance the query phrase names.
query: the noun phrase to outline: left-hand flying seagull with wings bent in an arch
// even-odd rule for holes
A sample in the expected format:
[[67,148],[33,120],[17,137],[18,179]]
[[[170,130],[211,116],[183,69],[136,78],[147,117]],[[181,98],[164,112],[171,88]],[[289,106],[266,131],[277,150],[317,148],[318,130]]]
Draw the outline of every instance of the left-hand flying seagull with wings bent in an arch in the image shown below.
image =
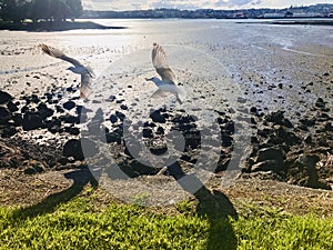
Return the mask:
[[94,73],[92,69],[89,66],[83,66],[80,61],[78,61],[74,58],[70,58],[65,56],[61,50],[52,48],[47,44],[40,44],[39,46],[42,51],[53,58],[59,58],[61,60],[64,60],[67,62],[72,63],[74,67],[69,67],[68,70],[72,71],[73,73],[81,74],[81,86],[80,86],[80,98],[85,99],[88,98],[91,86],[92,86],[92,78],[94,78]]

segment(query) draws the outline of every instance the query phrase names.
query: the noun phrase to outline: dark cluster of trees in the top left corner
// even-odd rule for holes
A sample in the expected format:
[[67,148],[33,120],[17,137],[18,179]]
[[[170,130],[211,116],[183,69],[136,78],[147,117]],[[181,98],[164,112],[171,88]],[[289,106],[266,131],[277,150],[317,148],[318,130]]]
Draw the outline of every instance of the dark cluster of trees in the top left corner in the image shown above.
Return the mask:
[[0,0],[0,19],[4,21],[74,20],[82,11],[81,0]]

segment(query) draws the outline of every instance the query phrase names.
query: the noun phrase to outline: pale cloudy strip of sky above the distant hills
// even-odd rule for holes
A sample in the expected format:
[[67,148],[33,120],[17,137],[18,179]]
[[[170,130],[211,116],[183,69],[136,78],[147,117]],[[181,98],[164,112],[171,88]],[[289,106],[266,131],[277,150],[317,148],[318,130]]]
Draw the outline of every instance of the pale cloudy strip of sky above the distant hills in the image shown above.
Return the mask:
[[332,0],[82,0],[85,10],[249,9],[333,3]]

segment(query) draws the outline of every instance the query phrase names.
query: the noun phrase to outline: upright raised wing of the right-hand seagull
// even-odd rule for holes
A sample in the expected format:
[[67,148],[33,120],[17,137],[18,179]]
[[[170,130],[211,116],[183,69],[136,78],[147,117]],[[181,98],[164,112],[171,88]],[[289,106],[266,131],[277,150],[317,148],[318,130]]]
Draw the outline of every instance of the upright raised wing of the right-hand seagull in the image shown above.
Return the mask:
[[165,83],[174,84],[175,74],[172,72],[168,62],[167,53],[160,44],[155,42],[153,43],[151,57],[152,63],[157,72],[161,76],[162,81],[164,81]]

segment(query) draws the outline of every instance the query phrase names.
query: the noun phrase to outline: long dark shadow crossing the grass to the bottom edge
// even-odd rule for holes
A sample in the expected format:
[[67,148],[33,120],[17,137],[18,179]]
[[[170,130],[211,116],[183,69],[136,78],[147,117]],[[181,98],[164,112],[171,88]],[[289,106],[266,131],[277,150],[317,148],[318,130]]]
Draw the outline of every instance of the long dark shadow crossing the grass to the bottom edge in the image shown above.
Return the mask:
[[[178,162],[168,167],[168,170],[175,180],[180,180],[185,176]],[[199,203],[196,213],[208,219],[210,222],[210,232],[206,249],[209,250],[233,250],[238,247],[236,237],[234,234],[229,217],[238,219],[238,212],[229,198],[220,191],[210,191],[196,177],[186,176],[188,183],[201,187],[195,193]],[[188,192],[190,187],[186,183],[179,184]]]

